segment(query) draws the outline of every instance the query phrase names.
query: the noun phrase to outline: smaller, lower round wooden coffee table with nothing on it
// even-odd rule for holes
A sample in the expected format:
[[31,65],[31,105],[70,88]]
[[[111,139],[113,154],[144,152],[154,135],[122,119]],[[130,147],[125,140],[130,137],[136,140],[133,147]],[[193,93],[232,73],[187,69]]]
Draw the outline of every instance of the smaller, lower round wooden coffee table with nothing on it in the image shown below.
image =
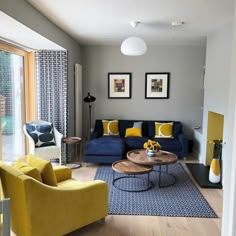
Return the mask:
[[[112,164],[112,170],[113,170],[112,184],[115,188],[117,188],[119,190],[122,190],[125,192],[143,192],[143,191],[149,190],[152,187],[152,182],[149,179],[149,173],[152,171],[152,166],[137,165],[129,160],[120,160],[120,161],[116,161]],[[121,174],[126,174],[126,175],[115,178],[115,172],[121,173]],[[143,175],[143,174],[147,174],[147,180],[136,176],[136,175]],[[118,181],[120,179],[125,179],[125,178],[142,179],[146,182],[145,185],[147,187],[142,188],[142,189],[138,189],[138,190],[129,190],[129,189],[121,188],[121,187],[115,185],[116,181]]]

